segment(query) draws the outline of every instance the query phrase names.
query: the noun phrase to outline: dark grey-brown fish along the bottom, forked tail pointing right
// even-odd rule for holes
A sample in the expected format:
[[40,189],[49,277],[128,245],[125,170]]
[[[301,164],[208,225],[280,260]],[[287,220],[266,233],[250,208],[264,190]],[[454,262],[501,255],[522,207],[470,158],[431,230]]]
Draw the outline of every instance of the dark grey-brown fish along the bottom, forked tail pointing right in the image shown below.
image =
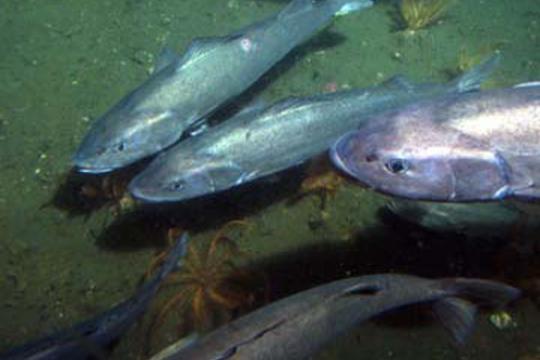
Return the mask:
[[151,360],[307,359],[358,324],[419,303],[431,304],[463,344],[476,314],[468,299],[499,307],[519,295],[517,288],[473,278],[376,274],[341,279],[271,303],[200,338],[183,339]]

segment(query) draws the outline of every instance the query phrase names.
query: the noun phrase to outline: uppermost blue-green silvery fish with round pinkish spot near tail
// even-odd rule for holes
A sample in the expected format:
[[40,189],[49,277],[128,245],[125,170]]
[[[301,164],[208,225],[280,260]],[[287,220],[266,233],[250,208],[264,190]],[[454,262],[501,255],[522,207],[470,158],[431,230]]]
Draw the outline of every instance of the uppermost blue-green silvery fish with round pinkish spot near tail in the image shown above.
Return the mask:
[[293,0],[281,12],[221,37],[198,38],[183,56],[165,49],[155,72],[97,119],[73,157],[83,173],[106,173],[204,129],[206,118],[334,16],[371,0]]

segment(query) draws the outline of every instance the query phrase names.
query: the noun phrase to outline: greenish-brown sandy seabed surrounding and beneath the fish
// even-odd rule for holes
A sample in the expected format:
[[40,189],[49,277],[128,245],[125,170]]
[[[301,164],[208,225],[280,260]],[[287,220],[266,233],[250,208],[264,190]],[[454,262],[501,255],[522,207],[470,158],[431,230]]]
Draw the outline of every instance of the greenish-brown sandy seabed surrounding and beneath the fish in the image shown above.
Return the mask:
[[[320,188],[306,186],[314,176],[310,164],[166,207],[120,201],[129,174],[104,180],[70,172],[90,123],[148,76],[161,48],[181,52],[194,37],[230,33],[285,4],[0,2],[0,352],[131,296],[170,229],[189,231],[192,243],[203,244],[241,219],[246,226],[227,232],[241,253],[235,261],[264,279],[251,306],[332,279],[390,271],[486,277],[528,289],[508,310],[510,326],[495,327],[483,312],[464,347],[452,344],[429,312],[414,309],[360,326],[317,359],[540,359],[534,231],[512,229],[495,240],[434,233],[388,219],[387,198],[335,177],[321,181],[321,198]],[[415,33],[400,30],[396,15],[395,2],[380,1],[336,19],[267,74],[253,95],[273,101],[369,86],[394,74],[445,81],[495,50],[503,58],[487,86],[540,79],[537,0],[459,1]],[[148,334],[160,304],[178,291],[160,292],[113,358],[144,358],[185,335],[178,330],[181,311]]]

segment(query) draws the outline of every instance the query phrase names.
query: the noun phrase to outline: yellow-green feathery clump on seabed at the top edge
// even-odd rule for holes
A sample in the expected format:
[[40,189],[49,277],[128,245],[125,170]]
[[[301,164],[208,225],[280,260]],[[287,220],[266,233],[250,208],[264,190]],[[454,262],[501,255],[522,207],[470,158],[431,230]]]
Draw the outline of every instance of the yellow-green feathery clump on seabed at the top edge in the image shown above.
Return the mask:
[[454,0],[401,0],[399,13],[405,30],[414,32],[440,20]]

